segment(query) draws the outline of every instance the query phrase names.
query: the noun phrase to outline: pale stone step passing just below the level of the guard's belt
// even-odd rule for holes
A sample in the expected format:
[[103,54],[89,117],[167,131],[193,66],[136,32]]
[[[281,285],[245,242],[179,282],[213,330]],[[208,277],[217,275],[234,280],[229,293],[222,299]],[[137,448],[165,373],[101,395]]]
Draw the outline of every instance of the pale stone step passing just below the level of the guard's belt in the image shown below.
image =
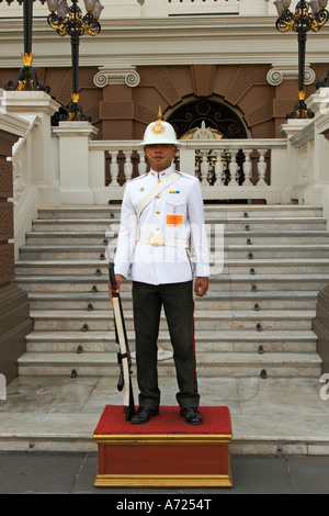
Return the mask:
[[[24,245],[20,247],[21,260],[57,260],[98,259],[105,255],[104,245]],[[222,247],[217,246],[222,250]],[[216,248],[214,249],[216,250]],[[211,248],[212,251],[212,248]],[[224,258],[228,259],[261,259],[261,258],[328,258],[329,244],[286,244],[286,245],[230,245],[224,246]]]

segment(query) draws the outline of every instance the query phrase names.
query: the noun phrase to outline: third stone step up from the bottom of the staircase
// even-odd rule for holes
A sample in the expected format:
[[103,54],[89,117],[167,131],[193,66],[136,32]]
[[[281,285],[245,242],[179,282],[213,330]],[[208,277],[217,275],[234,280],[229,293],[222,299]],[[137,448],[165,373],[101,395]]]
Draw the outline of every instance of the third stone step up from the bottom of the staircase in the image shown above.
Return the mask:
[[[259,329],[311,329],[311,319],[315,311],[297,310],[262,310],[256,311],[197,311],[195,313],[195,326],[198,329],[243,329],[257,332]],[[111,330],[114,328],[112,310],[41,310],[31,311],[36,330],[78,330],[88,325],[91,330]],[[133,313],[125,313],[127,329],[134,329]],[[167,329],[164,317],[160,321],[160,329]]]

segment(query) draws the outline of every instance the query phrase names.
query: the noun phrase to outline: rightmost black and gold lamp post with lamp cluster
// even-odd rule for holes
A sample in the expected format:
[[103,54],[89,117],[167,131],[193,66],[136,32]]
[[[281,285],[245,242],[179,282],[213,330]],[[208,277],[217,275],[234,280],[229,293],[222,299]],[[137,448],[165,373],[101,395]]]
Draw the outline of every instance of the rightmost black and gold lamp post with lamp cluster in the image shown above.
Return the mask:
[[279,19],[276,29],[279,32],[294,31],[298,34],[298,101],[294,111],[286,115],[287,119],[313,119],[314,113],[307,109],[305,103],[304,76],[305,76],[305,51],[306,37],[309,30],[318,32],[328,19],[329,12],[326,7],[328,0],[300,0],[293,13],[290,11],[291,0],[276,0]]

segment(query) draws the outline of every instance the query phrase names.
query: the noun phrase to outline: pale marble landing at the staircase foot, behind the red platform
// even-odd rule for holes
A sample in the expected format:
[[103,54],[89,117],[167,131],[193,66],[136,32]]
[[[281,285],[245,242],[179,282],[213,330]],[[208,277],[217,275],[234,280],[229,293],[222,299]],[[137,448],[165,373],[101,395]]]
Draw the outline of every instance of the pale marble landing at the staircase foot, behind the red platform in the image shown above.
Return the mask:
[[[115,377],[16,378],[0,401],[0,451],[95,452],[92,435],[104,406],[122,404],[116,383]],[[200,378],[198,383],[202,406],[229,407],[232,455],[329,457],[329,400],[319,394],[319,379]],[[175,379],[161,377],[160,388],[161,405],[177,404]]]

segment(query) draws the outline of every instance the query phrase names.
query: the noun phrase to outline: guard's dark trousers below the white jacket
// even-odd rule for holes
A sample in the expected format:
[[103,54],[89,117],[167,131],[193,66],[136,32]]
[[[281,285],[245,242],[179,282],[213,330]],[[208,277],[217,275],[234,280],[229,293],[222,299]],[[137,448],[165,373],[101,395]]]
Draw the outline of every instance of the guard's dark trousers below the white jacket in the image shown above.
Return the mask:
[[160,404],[157,341],[162,306],[173,348],[177,401],[181,407],[198,406],[192,281],[160,285],[134,281],[133,302],[139,406],[157,408]]

